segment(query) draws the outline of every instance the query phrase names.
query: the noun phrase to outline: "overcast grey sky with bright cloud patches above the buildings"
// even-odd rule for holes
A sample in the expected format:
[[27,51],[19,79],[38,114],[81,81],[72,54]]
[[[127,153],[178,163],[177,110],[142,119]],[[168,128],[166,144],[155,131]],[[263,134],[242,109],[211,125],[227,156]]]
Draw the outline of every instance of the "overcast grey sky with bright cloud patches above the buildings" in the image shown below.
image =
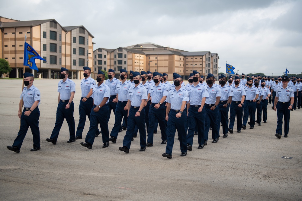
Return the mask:
[[94,49],[153,42],[217,52],[220,72],[226,61],[240,74],[302,71],[301,0],[10,0],[0,16],[83,25]]

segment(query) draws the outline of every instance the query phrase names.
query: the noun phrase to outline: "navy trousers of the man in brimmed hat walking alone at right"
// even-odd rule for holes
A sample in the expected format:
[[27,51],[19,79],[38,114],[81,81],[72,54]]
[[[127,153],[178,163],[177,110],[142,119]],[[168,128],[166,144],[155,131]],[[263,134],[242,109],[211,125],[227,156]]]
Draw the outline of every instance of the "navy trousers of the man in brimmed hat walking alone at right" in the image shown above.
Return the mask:
[[276,108],[277,108],[277,128],[276,133],[282,135],[282,118],[284,118],[284,135],[288,134],[289,130],[289,119],[291,117],[291,110],[288,107],[291,105],[290,102],[282,103],[278,101]]

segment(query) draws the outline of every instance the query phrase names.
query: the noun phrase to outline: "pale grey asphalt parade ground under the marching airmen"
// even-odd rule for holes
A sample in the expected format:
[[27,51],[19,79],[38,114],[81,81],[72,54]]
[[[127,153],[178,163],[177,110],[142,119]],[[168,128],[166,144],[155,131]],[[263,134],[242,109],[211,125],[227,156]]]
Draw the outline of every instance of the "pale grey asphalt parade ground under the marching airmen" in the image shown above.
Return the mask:
[[[79,121],[80,80],[76,83],[74,118]],[[19,130],[18,104],[22,80],[0,79],[0,200],[302,200],[302,109],[291,111],[288,138],[275,137],[277,115],[268,105],[267,123],[254,129],[228,135],[181,157],[177,132],[172,159],[162,157],[160,129],[154,134],[153,147],[140,152],[139,136],[132,141],[130,152],[118,150],[126,131],[117,143],[102,148],[101,135],[92,149],[83,139],[69,140],[66,121],[57,144],[47,142],[56,119],[59,80],[34,80],[41,92],[40,144],[33,147],[31,130],[20,153],[11,146]],[[230,114],[229,114],[230,115]],[[108,123],[109,132],[114,115]],[[234,128],[236,129],[236,121]],[[283,158],[282,158],[283,157]],[[285,157],[285,158],[284,158]]]

